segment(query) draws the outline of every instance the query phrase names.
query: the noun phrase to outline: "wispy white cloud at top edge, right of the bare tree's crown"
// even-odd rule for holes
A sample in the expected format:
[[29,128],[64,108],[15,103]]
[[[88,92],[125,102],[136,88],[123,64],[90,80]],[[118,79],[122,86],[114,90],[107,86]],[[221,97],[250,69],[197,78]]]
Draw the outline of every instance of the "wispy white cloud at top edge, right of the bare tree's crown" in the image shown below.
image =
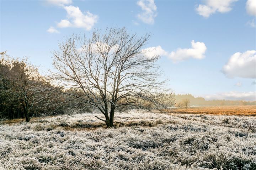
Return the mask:
[[142,8],[142,12],[137,17],[146,24],[154,24],[154,19],[157,16],[154,0],[139,0],[137,5]]

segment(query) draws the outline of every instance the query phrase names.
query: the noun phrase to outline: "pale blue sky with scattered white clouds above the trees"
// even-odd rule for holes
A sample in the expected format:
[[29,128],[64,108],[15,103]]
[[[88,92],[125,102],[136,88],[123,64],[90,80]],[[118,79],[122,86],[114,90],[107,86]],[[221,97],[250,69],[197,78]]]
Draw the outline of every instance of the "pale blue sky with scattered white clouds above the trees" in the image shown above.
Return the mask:
[[63,37],[126,27],[131,33],[152,34],[147,47],[161,55],[159,65],[176,94],[256,100],[255,4],[256,0],[0,0],[0,51],[30,57],[45,74],[52,69],[50,51],[58,49]]

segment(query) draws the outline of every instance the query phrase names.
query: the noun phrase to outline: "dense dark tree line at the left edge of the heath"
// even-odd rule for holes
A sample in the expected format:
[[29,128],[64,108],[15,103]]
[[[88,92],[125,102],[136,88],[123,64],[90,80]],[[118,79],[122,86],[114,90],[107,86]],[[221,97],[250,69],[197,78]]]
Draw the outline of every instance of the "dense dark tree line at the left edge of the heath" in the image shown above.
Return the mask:
[[28,58],[10,58],[2,54],[0,60],[0,119],[25,118],[28,122],[39,115],[58,114],[56,107],[62,98],[38,68],[28,63]]

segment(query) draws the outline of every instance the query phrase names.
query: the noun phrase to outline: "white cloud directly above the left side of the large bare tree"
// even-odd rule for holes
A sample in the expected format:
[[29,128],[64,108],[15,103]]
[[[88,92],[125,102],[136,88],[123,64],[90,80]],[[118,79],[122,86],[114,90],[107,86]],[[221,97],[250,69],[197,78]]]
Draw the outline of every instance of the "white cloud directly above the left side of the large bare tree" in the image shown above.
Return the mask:
[[64,6],[64,9],[68,13],[68,19],[62,19],[57,26],[58,27],[76,27],[85,28],[86,30],[91,30],[94,24],[98,20],[97,15],[93,15],[89,11],[86,14],[82,13],[79,7],[75,6]]

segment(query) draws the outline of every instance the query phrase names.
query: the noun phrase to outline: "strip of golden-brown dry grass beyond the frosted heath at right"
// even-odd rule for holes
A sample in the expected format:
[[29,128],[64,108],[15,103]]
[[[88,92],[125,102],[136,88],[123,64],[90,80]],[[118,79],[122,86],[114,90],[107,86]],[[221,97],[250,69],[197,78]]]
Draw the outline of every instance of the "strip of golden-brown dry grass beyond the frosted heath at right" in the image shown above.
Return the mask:
[[256,116],[256,106],[208,106],[165,110],[167,113]]

